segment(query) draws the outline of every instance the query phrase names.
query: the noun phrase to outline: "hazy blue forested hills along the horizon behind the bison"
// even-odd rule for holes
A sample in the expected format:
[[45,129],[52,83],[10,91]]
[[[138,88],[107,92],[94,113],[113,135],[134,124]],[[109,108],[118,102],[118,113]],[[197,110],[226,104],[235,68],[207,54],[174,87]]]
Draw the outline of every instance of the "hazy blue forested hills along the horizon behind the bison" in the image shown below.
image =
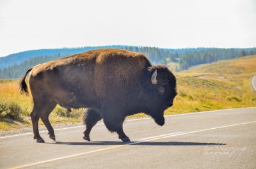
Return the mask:
[[[256,48],[184,48],[184,49],[163,49],[156,47],[131,47],[131,46],[110,46],[111,48],[123,48],[125,50],[131,50],[133,52],[140,52],[150,59],[152,64],[168,64],[168,62],[176,62],[179,67],[173,69],[176,71],[186,70],[191,66],[198,64],[211,63],[227,59],[235,59],[237,57],[243,57],[246,55],[256,54]],[[71,55],[74,53],[84,52],[95,48],[109,48],[109,47],[87,47],[87,48],[63,48],[63,50],[46,51],[49,55],[39,55],[38,57],[32,57],[26,61],[20,62],[20,64],[13,64],[0,69],[0,79],[3,78],[19,78],[26,70],[41,64],[43,62],[53,61]],[[40,50],[41,52],[43,50]],[[31,52],[31,54],[45,54],[45,52],[38,52],[37,50]],[[54,54],[53,54],[54,53]]]

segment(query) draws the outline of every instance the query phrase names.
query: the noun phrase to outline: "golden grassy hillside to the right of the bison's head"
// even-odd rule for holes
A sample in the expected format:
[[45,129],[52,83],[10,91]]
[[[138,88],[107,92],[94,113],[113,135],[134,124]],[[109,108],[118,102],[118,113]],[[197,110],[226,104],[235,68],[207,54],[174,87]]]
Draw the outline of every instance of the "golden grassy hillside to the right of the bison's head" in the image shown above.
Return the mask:
[[196,66],[176,73],[178,96],[166,114],[256,107],[251,78],[256,55]]

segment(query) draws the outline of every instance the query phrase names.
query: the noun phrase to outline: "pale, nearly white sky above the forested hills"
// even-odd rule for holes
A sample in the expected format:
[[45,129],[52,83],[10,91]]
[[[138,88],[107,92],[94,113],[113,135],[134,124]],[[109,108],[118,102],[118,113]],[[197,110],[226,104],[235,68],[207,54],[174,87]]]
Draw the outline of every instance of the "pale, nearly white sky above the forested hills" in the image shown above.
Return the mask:
[[0,56],[40,48],[256,47],[255,0],[1,0]]

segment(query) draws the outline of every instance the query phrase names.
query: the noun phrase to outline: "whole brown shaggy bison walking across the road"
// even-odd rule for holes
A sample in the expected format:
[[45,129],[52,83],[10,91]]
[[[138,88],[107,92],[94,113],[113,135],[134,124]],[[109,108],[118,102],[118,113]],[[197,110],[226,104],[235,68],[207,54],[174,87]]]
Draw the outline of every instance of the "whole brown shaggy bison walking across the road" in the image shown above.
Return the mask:
[[121,49],[90,50],[30,68],[20,82],[20,92],[28,95],[29,86],[34,107],[30,114],[34,139],[44,142],[38,132],[42,119],[49,136],[55,140],[49,114],[59,104],[67,108],[87,108],[84,140],[103,119],[106,128],[116,132],[123,142],[123,122],[127,115],[144,112],[163,126],[164,110],[172,107],[177,95],[176,79],[164,65],[152,66],[145,55]]

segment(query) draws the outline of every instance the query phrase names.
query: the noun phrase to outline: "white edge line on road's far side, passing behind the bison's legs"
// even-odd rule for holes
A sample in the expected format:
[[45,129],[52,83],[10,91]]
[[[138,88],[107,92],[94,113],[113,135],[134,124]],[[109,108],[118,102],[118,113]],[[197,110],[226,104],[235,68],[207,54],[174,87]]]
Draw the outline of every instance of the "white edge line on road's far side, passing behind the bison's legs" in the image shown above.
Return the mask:
[[[210,112],[220,112],[220,111],[228,111],[228,110],[239,110],[239,109],[246,109],[246,108],[256,108],[256,107],[243,107],[243,108],[229,108],[229,109],[223,109],[223,110],[211,110],[211,111],[205,111],[205,112],[191,112],[191,113],[184,113],[184,114],[173,114],[173,115],[164,115],[164,117],[172,117],[172,116],[178,116],[178,115],[193,115],[193,114],[205,114],[205,113],[210,113]],[[129,122],[129,121],[141,121],[145,119],[152,119],[152,117],[145,117],[145,118],[139,118],[139,119],[129,119],[125,120],[124,122]],[[97,123],[96,125],[102,125],[104,124],[103,122]],[[69,128],[59,128],[59,129],[54,129],[54,131],[58,130],[63,130],[63,129],[73,129],[73,128],[83,128],[84,125],[81,126],[74,126],[74,127],[69,127]],[[47,130],[40,131],[39,133],[45,133]],[[2,136],[1,138],[10,138],[10,137],[15,137],[15,136],[24,136],[24,135],[32,135],[33,133],[24,133],[20,135],[10,135],[10,136]]]

